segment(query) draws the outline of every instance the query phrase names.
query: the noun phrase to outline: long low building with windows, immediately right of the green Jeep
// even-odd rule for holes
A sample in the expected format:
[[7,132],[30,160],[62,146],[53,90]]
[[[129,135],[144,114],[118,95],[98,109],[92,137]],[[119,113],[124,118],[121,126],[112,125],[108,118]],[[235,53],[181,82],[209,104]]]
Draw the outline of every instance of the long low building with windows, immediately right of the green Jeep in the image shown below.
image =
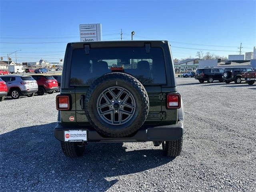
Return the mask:
[[183,73],[188,71],[194,71],[198,68],[198,62],[200,59],[185,59],[174,64],[175,72]]

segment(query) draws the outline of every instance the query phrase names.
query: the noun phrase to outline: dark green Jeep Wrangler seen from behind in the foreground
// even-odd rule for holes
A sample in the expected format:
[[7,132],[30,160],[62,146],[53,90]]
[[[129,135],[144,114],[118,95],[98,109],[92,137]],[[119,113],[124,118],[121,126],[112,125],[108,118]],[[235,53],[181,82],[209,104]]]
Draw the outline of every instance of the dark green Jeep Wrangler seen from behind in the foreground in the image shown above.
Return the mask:
[[54,136],[66,156],[88,142],[162,144],[180,155],[183,104],[168,41],[77,42],[66,48]]

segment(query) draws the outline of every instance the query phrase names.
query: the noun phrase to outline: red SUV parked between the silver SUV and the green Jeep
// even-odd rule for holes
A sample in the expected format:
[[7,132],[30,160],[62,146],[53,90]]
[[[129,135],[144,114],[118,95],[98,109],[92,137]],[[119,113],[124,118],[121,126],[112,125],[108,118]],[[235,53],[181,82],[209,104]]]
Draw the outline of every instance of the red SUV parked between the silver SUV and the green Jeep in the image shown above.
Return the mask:
[[58,82],[53,76],[32,75],[32,77],[37,81],[38,95],[43,95],[45,93],[52,94],[54,91],[58,90]]

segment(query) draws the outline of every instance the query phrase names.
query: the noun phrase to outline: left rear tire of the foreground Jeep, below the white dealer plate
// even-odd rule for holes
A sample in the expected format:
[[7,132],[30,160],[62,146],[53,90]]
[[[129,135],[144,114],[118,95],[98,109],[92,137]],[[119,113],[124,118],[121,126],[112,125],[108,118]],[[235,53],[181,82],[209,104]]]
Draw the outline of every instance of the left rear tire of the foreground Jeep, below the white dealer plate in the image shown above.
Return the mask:
[[70,158],[79,157],[84,154],[85,145],[79,146],[82,144],[80,142],[60,142],[63,153]]

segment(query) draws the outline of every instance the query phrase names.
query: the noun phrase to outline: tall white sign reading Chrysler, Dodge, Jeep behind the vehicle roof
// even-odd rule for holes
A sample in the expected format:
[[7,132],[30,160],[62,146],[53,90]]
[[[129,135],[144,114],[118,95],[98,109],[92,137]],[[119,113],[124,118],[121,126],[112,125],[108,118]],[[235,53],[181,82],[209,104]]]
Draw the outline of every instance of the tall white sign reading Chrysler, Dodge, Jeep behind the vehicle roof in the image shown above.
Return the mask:
[[93,42],[102,40],[101,24],[80,24],[80,42]]

